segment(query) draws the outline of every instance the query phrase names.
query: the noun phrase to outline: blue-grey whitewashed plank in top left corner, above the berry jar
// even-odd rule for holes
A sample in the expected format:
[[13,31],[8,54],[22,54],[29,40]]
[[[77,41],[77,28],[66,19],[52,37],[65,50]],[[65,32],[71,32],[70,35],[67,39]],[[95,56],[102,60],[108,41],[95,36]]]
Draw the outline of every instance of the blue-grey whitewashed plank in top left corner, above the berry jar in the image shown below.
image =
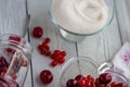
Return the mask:
[[0,0],[0,33],[22,36],[25,23],[25,0]]

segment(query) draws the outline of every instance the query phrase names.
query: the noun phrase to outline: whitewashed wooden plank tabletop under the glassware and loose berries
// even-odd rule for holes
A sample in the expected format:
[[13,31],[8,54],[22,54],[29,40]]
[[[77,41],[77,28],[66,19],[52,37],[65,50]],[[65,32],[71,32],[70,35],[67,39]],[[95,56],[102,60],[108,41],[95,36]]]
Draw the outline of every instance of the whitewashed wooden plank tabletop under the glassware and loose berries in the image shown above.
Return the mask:
[[[51,50],[65,50],[67,52],[66,61],[77,55],[92,58],[99,64],[104,61],[110,61],[130,36],[130,1],[113,1],[115,5],[115,16],[112,24],[103,32],[86,37],[81,42],[68,42],[60,36],[57,30],[55,30],[56,27],[48,16],[44,0],[28,0],[28,11],[31,15],[30,29],[35,26],[43,27],[43,37],[51,38]],[[23,29],[25,16],[24,0],[0,0],[0,34],[10,33],[22,36],[25,33],[25,29]],[[31,44],[35,48],[31,58],[32,72],[29,69],[24,87],[57,87],[57,79],[63,65],[51,67],[49,66],[51,60],[38,53],[36,47],[42,40],[43,38],[31,38]],[[43,86],[38,79],[38,75],[46,69],[52,71],[54,80],[50,85]]]

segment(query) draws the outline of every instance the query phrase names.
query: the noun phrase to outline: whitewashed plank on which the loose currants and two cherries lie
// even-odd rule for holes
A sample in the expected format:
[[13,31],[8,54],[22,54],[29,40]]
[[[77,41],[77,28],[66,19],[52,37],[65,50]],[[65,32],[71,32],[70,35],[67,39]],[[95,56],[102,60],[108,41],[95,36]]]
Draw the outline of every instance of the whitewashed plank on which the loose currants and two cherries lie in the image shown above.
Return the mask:
[[39,80],[39,73],[42,70],[50,70],[53,73],[54,79],[50,85],[44,87],[57,87],[57,80],[60,77],[61,69],[63,65],[57,65],[56,67],[51,67],[49,63],[51,60],[47,57],[40,55],[37,50],[37,46],[46,37],[51,38],[51,50],[60,49],[65,50],[67,52],[66,61],[72,57],[76,57],[76,48],[75,44],[70,44],[61,38],[60,34],[56,32],[56,27],[52,24],[51,20],[47,14],[47,10],[44,7],[43,0],[30,0],[30,14],[31,14],[31,29],[35,26],[41,26],[43,28],[43,37],[40,39],[31,38],[32,46],[35,48],[32,53],[32,73],[34,73],[34,86],[35,87],[43,87]]

